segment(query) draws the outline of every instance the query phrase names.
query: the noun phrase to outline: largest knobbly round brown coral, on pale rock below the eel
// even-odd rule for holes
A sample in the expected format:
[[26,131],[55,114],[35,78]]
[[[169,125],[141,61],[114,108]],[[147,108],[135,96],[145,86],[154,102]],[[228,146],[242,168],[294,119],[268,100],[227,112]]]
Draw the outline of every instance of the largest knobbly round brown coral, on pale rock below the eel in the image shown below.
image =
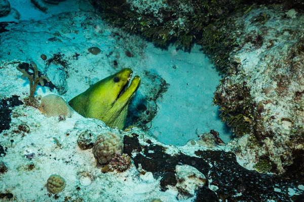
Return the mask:
[[100,164],[107,164],[117,154],[122,154],[123,146],[123,137],[120,134],[104,133],[98,135],[93,146],[93,154]]

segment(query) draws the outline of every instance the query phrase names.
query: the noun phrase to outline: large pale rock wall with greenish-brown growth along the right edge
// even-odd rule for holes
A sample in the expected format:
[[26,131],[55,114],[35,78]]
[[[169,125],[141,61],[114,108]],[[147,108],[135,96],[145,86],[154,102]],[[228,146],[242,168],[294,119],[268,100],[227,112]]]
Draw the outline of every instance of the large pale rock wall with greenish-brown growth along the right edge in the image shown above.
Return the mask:
[[304,15],[255,5],[234,20],[243,24],[239,46],[214,103],[238,137],[229,145],[243,166],[281,174],[303,149]]

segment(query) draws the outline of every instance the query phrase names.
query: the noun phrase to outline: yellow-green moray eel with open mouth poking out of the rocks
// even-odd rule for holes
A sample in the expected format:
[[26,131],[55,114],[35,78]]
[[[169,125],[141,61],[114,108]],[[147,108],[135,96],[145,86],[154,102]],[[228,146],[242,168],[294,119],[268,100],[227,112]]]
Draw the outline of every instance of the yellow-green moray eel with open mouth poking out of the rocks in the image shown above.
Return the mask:
[[68,104],[84,117],[100,119],[109,127],[123,129],[129,104],[140,85],[140,77],[135,76],[128,87],[131,76],[131,69],[123,69],[90,86]]

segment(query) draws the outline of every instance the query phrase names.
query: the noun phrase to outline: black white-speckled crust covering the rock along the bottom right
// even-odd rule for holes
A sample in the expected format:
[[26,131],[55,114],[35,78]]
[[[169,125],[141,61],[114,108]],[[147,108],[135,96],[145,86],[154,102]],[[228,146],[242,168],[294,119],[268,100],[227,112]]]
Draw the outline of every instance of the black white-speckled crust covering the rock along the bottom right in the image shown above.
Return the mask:
[[[130,132],[135,131],[132,129]],[[303,166],[301,166],[303,165],[303,153],[294,154],[297,164],[288,167],[286,173],[267,175],[240,166],[236,155],[231,151],[210,149],[202,151],[197,147],[197,150],[194,151],[196,157],[190,157],[180,153],[179,150],[172,154],[172,148],[152,143],[144,138],[135,133],[132,136],[125,135],[124,138],[124,153],[131,156],[136,168],[140,168],[142,172],[152,172],[154,176],[162,178],[170,172],[173,174],[170,174],[172,177],[166,178],[173,178],[175,173],[176,176],[178,175],[176,167],[182,165],[179,167],[179,175],[188,176],[188,182],[192,179],[191,172],[196,173],[198,177],[204,175],[205,180],[203,177],[198,181],[200,184],[205,181],[208,186],[196,187],[196,183],[190,185],[193,188],[192,193],[197,188],[194,191],[197,194],[194,199],[196,202],[248,201],[249,198],[256,201],[269,199],[288,201],[292,198],[290,190],[294,190],[296,194],[302,193],[300,187],[304,182]],[[256,186],[256,184],[260,186]],[[182,185],[178,186],[182,187]],[[181,197],[186,194],[182,189],[178,189],[178,191]]]

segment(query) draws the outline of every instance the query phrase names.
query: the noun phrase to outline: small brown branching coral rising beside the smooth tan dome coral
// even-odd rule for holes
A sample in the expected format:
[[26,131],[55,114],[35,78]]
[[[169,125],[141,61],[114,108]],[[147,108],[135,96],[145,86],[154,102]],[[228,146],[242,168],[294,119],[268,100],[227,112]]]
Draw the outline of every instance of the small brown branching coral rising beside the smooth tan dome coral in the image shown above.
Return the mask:
[[21,78],[27,77],[29,80],[29,101],[32,103],[34,101],[34,93],[36,91],[37,84],[40,83],[42,86],[44,86],[43,79],[47,80],[48,82],[50,82],[50,79],[44,75],[41,75],[39,77],[37,65],[33,61],[31,61],[30,64],[34,69],[34,75],[30,75],[25,71],[25,69],[21,69],[19,66],[17,66],[16,68],[22,73]]

